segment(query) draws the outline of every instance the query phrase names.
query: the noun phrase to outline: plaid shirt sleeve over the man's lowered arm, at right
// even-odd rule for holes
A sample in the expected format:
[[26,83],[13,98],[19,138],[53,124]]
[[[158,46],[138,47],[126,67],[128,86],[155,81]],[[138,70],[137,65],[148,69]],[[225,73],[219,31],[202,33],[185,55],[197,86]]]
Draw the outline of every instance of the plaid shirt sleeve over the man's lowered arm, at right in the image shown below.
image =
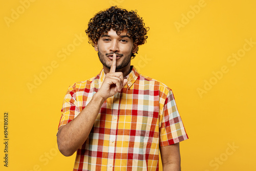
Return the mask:
[[188,139],[172,90],[169,90],[164,100],[161,115],[159,119],[160,146],[172,145]]

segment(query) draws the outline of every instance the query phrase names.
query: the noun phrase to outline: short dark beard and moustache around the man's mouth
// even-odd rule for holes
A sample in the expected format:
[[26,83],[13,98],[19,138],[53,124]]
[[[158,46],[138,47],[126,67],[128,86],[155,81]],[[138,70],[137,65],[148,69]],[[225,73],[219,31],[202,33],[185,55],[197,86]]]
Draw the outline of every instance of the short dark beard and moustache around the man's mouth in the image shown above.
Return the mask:
[[[98,52],[100,62],[102,63],[103,66],[105,66],[109,69],[111,68],[112,63],[110,63],[110,64],[107,63],[106,55],[111,55],[111,54],[114,54],[114,53],[106,53],[105,55],[103,55],[102,53],[100,53],[100,51]],[[115,53],[115,54],[123,57],[123,54],[118,54],[118,53]],[[129,65],[131,58],[132,58],[132,51],[129,55],[124,56],[122,63],[120,63],[119,65],[116,66],[116,70],[120,70],[120,69],[126,67],[127,65]]]

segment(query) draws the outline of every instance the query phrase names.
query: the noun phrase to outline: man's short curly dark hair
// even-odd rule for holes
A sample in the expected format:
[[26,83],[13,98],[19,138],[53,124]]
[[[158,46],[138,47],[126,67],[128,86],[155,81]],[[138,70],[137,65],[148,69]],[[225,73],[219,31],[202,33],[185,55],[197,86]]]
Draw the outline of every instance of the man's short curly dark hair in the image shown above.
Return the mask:
[[[127,35],[133,38],[134,44],[143,45],[146,42],[146,33],[150,29],[145,27],[142,17],[137,15],[137,10],[127,11],[125,9],[112,6],[105,11],[100,11],[88,23],[86,34],[89,37],[89,43],[94,47],[102,34],[108,34],[113,29],[117,35],[120,31],[127,29]],[[137,48],[136,53],[138,53]],[[132,54],[133,58],[135,54]]]

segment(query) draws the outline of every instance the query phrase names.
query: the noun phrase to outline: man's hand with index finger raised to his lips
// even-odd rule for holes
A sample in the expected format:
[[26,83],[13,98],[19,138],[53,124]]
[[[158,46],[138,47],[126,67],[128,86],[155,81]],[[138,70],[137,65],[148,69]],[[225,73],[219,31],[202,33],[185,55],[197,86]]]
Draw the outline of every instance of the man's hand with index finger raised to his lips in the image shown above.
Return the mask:
[[127,79],[123,79],[122,72],[116,72],[116,54],[113,54],[110,72],[106,74],[105,79],[98,91],[98,95],[104,99],[114,96],[125,86]]

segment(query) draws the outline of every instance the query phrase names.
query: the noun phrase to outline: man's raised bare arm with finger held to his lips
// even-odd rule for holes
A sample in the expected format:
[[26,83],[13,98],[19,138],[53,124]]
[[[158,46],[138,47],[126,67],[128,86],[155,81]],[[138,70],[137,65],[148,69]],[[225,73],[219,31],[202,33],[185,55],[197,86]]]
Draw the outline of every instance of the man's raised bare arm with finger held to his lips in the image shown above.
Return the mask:
[[113,55],[110,72],[106,74],[101,88],[94,94],[92,100],[75,119],[59,127],[57,143],[59,151],[64,156],[73,155],[86,141],[103,102],[107,98],[115,95],[127,83],[127,79],[123,79],[123,74],[121,72],[115,72],[115,69],[116,54]]

